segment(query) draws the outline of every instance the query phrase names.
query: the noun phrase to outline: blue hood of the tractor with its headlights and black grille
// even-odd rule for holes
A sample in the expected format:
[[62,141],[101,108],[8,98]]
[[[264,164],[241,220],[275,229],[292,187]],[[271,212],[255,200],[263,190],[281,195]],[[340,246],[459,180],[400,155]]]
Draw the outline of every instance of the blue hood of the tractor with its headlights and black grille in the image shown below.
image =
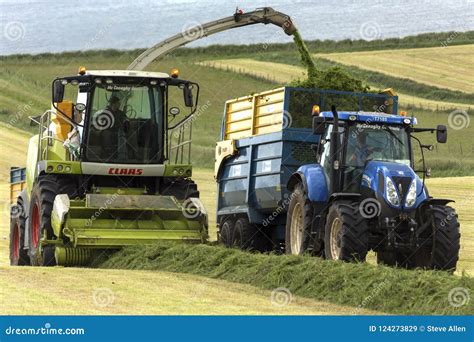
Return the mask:
[[370,161],[362,175],[362,189],[369,188],[382,207],[412,211],[427,199],[423,182],[405,164]]

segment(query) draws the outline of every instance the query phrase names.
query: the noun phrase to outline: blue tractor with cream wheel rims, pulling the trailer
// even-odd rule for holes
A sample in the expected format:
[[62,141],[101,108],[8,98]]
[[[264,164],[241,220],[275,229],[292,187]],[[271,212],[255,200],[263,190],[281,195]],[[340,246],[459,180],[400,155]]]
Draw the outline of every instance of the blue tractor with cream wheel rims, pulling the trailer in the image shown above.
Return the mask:
[[[415,118],[380,112],[319,113],[313,133],[321,139],[317,162],[302,165],[290,177],[286,221],[287,253],[364,261],[406,268],[454,270],[460,232],[449,199],[428,193],[423,149],[415,136],[436,132],[445,143],[447,129],[415,128]],[[421,150],[422,179],[414,170],[412,144]]]

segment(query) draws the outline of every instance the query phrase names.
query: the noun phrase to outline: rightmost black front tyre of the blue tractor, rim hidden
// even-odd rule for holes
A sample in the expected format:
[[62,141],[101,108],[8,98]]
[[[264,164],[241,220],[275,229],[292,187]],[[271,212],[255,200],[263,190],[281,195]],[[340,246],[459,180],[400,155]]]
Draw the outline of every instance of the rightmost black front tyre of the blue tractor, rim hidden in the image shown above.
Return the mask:
[[431,221],[428,239],[431,246],[420,246],[414,253],[413,266],[453,272],[459,259],[459,221],[456,211],[445,205],[433,205],[426,210],[425,220]]

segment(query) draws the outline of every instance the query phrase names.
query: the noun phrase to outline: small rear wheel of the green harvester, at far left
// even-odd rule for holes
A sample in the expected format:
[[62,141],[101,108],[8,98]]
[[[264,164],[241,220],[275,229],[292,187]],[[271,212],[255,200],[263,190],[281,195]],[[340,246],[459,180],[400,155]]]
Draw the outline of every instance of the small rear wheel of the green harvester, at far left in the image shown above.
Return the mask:
[[25,246],[25,213],[21,205],[10,211],[10,265],[25,266],[30,264]]

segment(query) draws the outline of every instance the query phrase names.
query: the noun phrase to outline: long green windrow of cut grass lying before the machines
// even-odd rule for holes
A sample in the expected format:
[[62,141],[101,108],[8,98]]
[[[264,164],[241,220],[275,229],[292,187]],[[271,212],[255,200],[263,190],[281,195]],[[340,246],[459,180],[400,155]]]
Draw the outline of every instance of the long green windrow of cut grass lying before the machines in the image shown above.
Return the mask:
[[474,314],[473,301],[451,304],[462,303],[463,294],[474,288],[474,279],[439,271],[164,243],[123,249],[98,267],[190,273],[268,290],[285,288],[293,295],[353,306],[354,314],[359,308],[390,314]]

